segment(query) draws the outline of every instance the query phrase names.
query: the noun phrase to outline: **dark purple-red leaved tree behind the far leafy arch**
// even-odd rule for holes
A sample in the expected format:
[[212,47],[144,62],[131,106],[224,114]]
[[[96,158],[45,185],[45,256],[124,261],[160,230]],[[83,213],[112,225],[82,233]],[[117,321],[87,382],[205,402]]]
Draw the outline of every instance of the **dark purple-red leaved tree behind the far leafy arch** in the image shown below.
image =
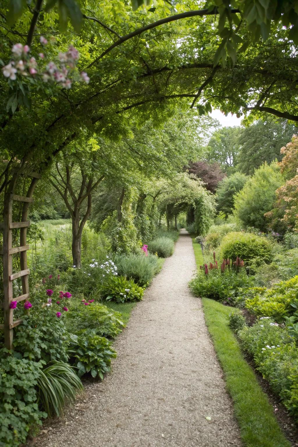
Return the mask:
[[189,163],[187,170],[190,174],[200,178],[206,189],[212,193],[215,192],[218,183],[225,177],[218,163],[209,164],[206,161],[196,161]]

